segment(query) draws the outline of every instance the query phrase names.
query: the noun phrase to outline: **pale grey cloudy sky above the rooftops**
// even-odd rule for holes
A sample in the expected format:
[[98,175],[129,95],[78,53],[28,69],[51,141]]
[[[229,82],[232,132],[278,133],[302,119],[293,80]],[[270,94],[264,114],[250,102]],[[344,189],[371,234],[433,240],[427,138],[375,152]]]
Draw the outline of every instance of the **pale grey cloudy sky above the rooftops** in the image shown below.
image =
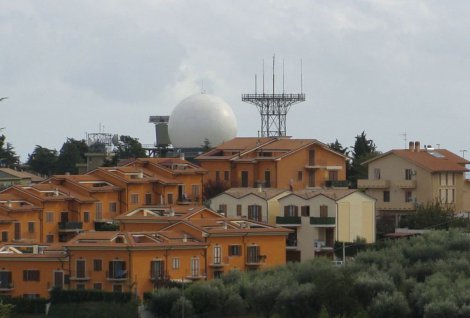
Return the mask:
[[[241,101],[282,76],[306,101],[287,135],[378,150],[406,140],[469,150],[470,2],[418,0],[0,0],[0,127],[21,161],[86,133],[155,141],[150,115],[170,115],[202,89],[227,101],[238,136],[260,115]],[[282,81],[276,82],[282,90]]]

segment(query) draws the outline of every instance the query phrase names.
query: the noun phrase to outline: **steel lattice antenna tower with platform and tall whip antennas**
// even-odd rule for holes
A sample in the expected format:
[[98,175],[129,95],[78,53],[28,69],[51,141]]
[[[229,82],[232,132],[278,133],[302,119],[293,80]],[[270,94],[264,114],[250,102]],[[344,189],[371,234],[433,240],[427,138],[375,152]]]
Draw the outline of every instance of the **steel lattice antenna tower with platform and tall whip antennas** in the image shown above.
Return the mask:
[[257,76],[255,74],[255,93],[242,94],[242,101],[256,106],[261,115],[261,137],[286,136],[286,117],[290,107],[305,101],[302,82],[302,61],[300,61],[300,94],[284,92],[284,60],[282,61],[282,93],[275,90],[275,56],[273,56],[272,93],[266,93],[264,88],[263,60],[263,92],[258,94]]

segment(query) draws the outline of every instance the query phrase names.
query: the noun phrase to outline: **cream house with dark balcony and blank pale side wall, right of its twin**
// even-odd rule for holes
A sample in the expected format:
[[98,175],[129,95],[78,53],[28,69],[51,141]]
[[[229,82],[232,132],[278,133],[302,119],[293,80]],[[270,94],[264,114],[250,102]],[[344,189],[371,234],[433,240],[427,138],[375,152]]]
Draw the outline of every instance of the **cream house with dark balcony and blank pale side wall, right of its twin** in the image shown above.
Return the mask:
[[303,261],[333,253],[335,241],[375,242],[375,200],[358,190],[299,190],[279,199],[278,226],[294,230],[287,259]]

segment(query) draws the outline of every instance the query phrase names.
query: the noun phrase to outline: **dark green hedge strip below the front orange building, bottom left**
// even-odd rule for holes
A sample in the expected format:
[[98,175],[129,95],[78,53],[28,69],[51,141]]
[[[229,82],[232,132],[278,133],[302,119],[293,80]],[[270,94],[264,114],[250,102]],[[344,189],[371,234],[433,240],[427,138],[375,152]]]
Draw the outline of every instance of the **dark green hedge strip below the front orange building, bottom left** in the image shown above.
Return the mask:
[[54,288],[50,291],[51,302],[55,303],[74,303],[84,301],[104,301],[127,303],[132,300],[130,292],[106,292],[100,290],[63,290]]

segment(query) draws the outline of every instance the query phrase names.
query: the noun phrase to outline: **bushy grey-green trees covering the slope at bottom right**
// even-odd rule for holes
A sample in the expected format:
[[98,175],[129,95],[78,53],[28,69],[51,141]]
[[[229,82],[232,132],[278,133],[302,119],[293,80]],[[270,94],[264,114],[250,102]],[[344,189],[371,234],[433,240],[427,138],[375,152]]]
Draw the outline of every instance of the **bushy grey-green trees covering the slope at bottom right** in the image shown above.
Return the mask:
[[432,231],[387,241],[345,266],[326,259],[232,271],[159,289],[158,317],[470,317],[470,237]]

